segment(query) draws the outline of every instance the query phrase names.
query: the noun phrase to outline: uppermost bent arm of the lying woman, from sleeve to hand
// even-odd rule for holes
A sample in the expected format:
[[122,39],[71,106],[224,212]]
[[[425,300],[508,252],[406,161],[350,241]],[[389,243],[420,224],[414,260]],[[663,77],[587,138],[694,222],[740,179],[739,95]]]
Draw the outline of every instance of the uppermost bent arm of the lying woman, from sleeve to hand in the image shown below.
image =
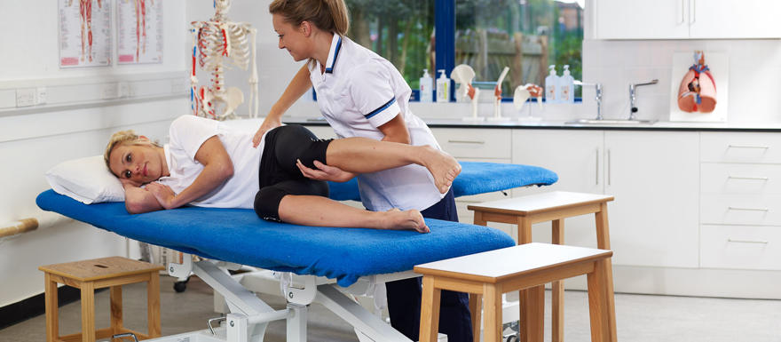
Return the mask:
[[160,183],[150,183],[146,186],[163,208],[174,209],[191,203],[233,177],[233,161],[217,136],[203,142],[195,153],[195,160],[203,165],[203,170],[193,180],[193,184],[185,187],[178,195],[174,195],[170,187]]

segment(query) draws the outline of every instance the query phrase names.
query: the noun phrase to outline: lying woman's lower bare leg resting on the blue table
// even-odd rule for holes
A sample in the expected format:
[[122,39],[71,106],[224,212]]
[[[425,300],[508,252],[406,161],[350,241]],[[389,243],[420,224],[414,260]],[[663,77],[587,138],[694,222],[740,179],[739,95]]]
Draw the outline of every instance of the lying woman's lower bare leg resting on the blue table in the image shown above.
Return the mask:
[[416,230],[429,233],[420,211],[365,211],[314,195],[286,195],[280,219],[302,226]]

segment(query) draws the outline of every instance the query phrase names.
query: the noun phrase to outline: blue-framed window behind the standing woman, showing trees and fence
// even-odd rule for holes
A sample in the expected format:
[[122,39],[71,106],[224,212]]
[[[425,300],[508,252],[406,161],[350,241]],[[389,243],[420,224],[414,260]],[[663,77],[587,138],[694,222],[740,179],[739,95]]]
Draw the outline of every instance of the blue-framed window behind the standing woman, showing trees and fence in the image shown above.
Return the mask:
[[449,75],[461,63],[474,68],[475,81],[487,88],[509,67],[504,97],[511,97],[518,85],[543,85],[551,64],[559,76],[569,65],[572,76],[582,78],[583,0],[346,3],[351,12],[348,36],[390,60],[412,89],[418,89],[423,68],[436,78],[435,66]]

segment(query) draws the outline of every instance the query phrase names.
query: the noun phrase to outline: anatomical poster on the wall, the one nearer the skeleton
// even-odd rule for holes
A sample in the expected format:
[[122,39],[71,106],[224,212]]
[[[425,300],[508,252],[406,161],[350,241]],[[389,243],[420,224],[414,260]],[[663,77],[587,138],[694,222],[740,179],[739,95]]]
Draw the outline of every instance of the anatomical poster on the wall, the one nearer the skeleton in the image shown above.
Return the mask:
[[162,63],[162,1],[117,0],[119,64]]

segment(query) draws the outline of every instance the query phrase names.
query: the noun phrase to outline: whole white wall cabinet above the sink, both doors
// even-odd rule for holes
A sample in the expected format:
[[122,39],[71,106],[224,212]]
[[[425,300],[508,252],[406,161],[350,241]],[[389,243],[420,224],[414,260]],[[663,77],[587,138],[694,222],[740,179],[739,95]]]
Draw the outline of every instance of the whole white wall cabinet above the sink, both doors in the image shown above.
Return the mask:
[[596,0],[597,39],[781,37],[781,2],[767,0]]

